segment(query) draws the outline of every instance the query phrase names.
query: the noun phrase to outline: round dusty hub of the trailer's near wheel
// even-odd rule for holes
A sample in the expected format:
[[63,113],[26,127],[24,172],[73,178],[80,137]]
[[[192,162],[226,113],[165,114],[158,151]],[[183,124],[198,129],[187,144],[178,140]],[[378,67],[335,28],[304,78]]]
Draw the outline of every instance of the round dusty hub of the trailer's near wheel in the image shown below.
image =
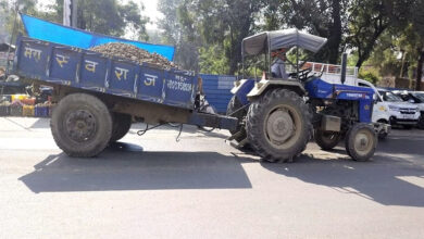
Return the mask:
[[96,120],[88,111],[77,110],[70,112],[65,122],[67,135],[77,142],[89,140],[96,133]]

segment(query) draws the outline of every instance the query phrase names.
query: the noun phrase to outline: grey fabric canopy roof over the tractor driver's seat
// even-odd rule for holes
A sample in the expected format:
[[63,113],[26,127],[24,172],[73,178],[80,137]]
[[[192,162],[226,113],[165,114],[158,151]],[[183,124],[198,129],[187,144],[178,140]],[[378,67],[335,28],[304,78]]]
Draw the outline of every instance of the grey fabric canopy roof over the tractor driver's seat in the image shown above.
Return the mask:
[[242,40],[242,55],[255,55],[282,48],[299,47],[317,52],[325,43],[326,38],[314,36],[296,28],[263,32]]

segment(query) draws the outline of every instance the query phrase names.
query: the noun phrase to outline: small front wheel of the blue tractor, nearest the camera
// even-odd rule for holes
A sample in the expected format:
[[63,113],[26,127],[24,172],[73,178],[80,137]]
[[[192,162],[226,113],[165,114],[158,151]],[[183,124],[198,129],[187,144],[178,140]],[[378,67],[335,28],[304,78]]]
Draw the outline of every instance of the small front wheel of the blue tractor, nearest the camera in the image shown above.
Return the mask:
[[345,139],[346,152],[354,161],[369,161],[377,147],[377,135],[367,124],[354,124]]

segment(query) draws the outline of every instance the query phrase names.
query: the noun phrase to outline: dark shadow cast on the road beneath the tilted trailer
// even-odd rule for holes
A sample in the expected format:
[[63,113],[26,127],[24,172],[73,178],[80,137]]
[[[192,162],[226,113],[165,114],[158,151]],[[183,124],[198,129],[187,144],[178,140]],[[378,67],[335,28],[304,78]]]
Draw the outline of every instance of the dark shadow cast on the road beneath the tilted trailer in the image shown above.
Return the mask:
[[34,192],[251,188],[242,159],[215,152],[142,152],[116,143],[99,158],[49,155],[20,178]]

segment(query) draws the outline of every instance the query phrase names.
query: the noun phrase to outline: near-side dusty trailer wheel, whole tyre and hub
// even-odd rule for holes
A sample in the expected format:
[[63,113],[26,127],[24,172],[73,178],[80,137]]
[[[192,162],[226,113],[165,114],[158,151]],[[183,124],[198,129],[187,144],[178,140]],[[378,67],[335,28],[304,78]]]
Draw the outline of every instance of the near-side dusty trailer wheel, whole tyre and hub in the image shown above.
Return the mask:
[[109,143],[112,117],[107,105],[87,93],[63,98],[54,109],[50,128],[55,143],[70,156],[95,156]]

